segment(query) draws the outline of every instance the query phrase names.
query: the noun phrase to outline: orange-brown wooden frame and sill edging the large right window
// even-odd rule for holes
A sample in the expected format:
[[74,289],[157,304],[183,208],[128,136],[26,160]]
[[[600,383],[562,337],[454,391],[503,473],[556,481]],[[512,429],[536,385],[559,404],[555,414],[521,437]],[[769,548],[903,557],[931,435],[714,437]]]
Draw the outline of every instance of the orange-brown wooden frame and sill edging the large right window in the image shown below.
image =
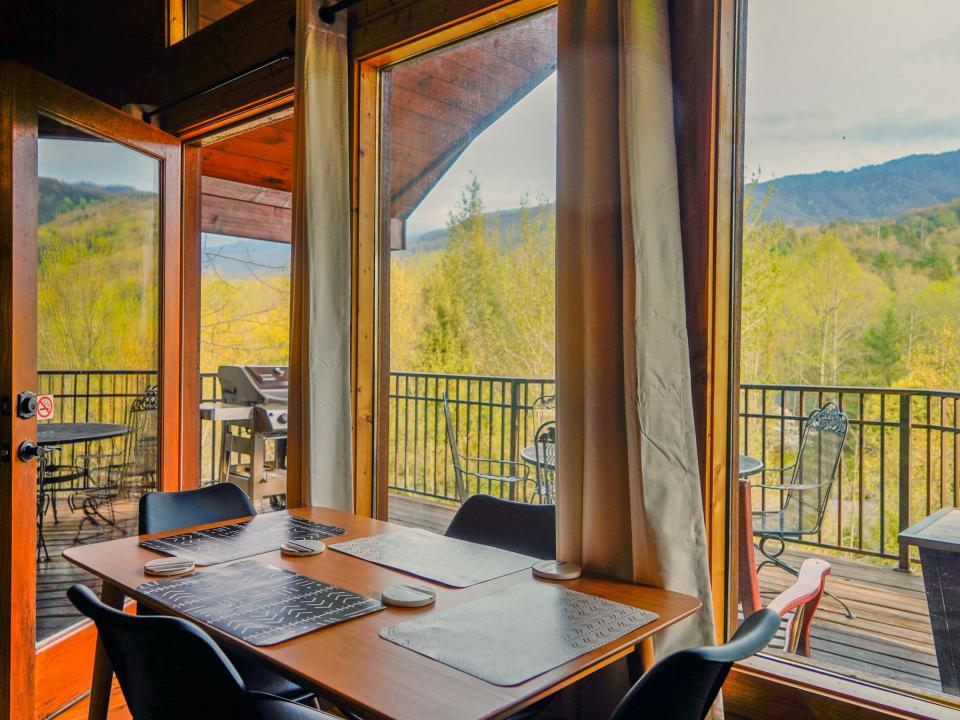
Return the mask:
[[[690,4],[695,0],[674,0],[674,5]],[[725,538],[725,582],[726,624],[732,634],[737,621],[737,512],[736,495],[737,448],[739,447],[739,386],[740,386],[740,312],[741,312],[741,261],[742,261],[742,219],[743,219],[743,180],[744,180],[744,141],[745,141],[745,98],[746,98],[746,52],[747,52],[747,3],[748,0],[714,0],[715,34],[714,67],[716,130],[712,145],[718,158],[714,178],[716,198],[715,245],[726,246],[726,253],[720,257],[729,258],[728,266],[717,262],[717,277],[726,287],[723,290],[728,298],[729,312],[726,322],[729,328],[729,350],[727,354],[728,373],[726,388],[722,377],[715,377],[713,388],[716,393],[726,393],[726,408],[719,406],[715,413],[725,412],[726,431],[726,479],[725,487],[716,487],[718,478],[708,478],[713,484],[712,492],[705,492],[705,499],[712,494],[723,495],[731,512],[727,516],[727,535]],[[728,217],[725,217],[728,214]],[[722,221],[721,221],[722,220]],[[718,289],[720,289],[718,287]],[[689,300],[689,298],[688,298]],[[714,322],[722,318],[714,316]],[[721,387],[717,387],[717,386]],[[720,424],[720,419],[714,417]],[[706,488],[705,488],[706,490]],[[707,505],[709,507],[709,505]],[[709,526],[708,511],[708,526]],[[711,561],[718,555],[713,545],[719,537],[711,533]],[[716,585],[714,585],[716,597]],[[719,625],[718,625],[719,627]],[[861,680],[852,675],[843,675],[805,661],[792,660],[775,655],[760,653],[746,661],[737,663],[730,679],[725,685],[727,708],[736,716],[743,713],[754,716],[758,703],[772,704],[776,699],[778,706],[785,710],[807,710],[808,712],[829,713],[831,717],[844,718],[947,718],[954,717],[960,709],[960,698],[956,702],[949,699],[925,694],[921,688],[910,693],[891,687]]]

